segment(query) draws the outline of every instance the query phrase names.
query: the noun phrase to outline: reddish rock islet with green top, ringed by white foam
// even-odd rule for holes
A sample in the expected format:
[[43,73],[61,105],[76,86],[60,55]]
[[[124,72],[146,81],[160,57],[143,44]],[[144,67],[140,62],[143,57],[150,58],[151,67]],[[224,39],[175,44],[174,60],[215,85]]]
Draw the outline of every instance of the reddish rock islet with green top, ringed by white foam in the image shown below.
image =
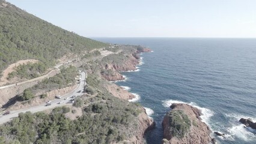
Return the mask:
[[188,104],[172,104],[163,118],[162,143],[211,143],[212,131],[201,121],[201,112]]

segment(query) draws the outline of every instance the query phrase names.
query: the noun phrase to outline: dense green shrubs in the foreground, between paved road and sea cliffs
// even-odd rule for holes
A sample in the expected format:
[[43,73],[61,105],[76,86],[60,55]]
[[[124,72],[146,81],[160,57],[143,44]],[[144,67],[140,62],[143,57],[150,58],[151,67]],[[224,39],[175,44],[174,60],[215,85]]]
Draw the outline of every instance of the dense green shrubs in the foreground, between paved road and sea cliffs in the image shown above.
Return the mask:
[[[82,98],[76,101],[77,107],[86,102]],[[133,136],[138,126],[135,117],[141,112],[135,104],[102,92],[87,103],[84,114],[74,121],[66,118],[65,113],[75,113],[67,107],[57,107],[50,115],[20,113],[0,126],[0,143],[112,143]]]

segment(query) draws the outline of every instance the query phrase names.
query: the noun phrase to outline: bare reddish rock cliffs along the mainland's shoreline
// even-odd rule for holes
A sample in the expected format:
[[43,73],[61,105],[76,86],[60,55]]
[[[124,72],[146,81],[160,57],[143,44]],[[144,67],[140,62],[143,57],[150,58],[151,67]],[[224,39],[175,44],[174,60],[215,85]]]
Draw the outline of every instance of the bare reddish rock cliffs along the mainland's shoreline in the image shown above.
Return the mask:
[[[125,77],[122,76],[120,72],[135,71],[136,65],[139,64],[139,59],[140,59],[140,56],[138,54],[142,52],[151,52],[151,50],[148,48],[139,46],[135,51],[126,55],[126,61],[123,61],[122,63],[119,63],[119,64],[115,62],[111,62],[105,65],[102,65],[101,67],[105,71],[109,72],[109,73],[101,73],[102,77],[108,81],[124,80]],[[132,98],[135,98],[133,94],[120,88],[120,86],[115,85],[115,83],[109,83],[108,91],[115,97],[118,97],[122,100],[131,100]],[[136,143],[136,144],[144,143],[145,132],[148,130],[151,130],[156,125],[153,119],[148,117],[143,107],[141,107],[141,111],[142,112],[138,115],[138,130],[134,131],[135,134],[133,137],[131,137],[128,140],[124,140],[124,142]]]

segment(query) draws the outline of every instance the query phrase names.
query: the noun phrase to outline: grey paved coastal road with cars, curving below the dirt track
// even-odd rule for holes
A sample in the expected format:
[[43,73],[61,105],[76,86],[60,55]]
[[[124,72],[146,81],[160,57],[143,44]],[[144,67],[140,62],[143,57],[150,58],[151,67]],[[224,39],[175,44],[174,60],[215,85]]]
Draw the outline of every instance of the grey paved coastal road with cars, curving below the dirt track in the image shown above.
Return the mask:
[[[69,92],[65,95],[61,95],[61,98],[59,99],[52,100],[50,102],[51,103],[50,106],[46,106],[47,103],[44,103],[38,106],[28,107],[26,109],[13,110],[8,115],[1,115],[0,124],[4,124],[5,122],[10,121],[11,119],[19,116],[19,113],[21,112],[25,113],[30,111],[32,113],[35,113],[35,112],[40,112],[47,109],[53,109],[54,107],[58,107],[58,106],[65,106],[67,104],[72,105],[72,101],[70,101],[71,99],[70,97],[72,96],[78,97],[83,95],[84,87],[87,85],[86,83],[87,73],[85,73],[84,71],[80,71],[80,73],[81,73],[81,76],[80,76],[81,82],[78,84],[78,86],[76,86],[76,88],[72,92]],[[68,100],[64,100],[65,98],[68,98]],[[63,103],[58,104],[60,101],[62,101]]]

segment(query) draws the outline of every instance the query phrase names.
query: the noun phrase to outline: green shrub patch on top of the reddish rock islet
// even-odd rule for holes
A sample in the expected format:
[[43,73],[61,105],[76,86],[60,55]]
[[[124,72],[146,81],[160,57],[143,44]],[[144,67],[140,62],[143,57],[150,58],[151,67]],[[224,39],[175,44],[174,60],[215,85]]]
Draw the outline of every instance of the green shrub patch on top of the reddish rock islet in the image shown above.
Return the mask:
[[189,117],[182,110],[171,110],[167,115],[172,135],[178,138],[183,138],[191,125]]

